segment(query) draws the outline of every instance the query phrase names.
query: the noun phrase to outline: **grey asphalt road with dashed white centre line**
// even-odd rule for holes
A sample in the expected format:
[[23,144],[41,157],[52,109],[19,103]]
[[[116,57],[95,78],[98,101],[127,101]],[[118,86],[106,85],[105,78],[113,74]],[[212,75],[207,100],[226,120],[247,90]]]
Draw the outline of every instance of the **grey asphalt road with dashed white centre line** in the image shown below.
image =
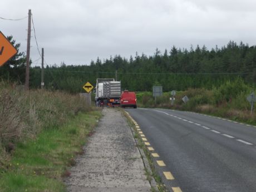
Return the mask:
[[126,111],[159,155],[152,158],[170,191],[256,191],[255,127],[185,111]]

